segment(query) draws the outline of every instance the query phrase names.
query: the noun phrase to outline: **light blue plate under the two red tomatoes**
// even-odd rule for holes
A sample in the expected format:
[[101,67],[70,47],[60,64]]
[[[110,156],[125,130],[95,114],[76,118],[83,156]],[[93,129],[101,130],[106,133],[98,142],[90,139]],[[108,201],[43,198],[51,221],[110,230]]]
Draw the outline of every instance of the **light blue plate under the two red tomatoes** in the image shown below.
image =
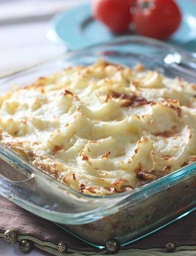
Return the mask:
[[[176,1],[181,9],[182,22],[168,42],[196,52],[196,1]],[[90,4],[57,14],[47,32],[48,39],[66,51],[78,50],[117,36],[91,17]]]

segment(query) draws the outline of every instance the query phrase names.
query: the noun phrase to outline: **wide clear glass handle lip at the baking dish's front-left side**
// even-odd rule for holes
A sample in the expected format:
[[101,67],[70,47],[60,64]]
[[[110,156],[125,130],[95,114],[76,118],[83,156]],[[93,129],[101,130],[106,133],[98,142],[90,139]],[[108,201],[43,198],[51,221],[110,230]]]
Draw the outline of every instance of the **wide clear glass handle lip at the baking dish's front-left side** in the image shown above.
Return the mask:
[[[20,175],[19,170],[6,164],[9,171],[12,168]],[[58,186],[58,183],[39,174],[18,181],[0,174],[0,194],[42,218],[61,224],[85,224],[99,220],[115,212],[118,202],[124,198],[100,197],[99,200],[98,197],[63,189],[65,185]]]

